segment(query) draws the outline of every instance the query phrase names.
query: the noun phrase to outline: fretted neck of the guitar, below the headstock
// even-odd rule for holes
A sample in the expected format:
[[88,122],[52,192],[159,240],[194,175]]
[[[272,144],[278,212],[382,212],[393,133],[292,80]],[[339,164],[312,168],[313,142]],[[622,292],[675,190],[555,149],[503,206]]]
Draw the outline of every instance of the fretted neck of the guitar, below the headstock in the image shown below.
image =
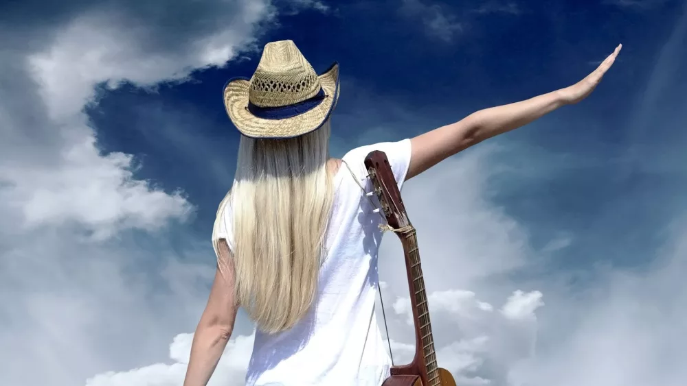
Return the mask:
[[436,352],[434,351],[434,338],[429,322],[429,307],[427,304],[427,292],[425,291],[425,279],[423,269],[420,265],[420,251],[418,250],[418,239],[415,228],[412,226],[408,232],[399,233],[405,254],[405,266],[408,274],[408,285],[410,289],[410,303],[413,311],[413,322],[415,325],[416,361],[422,359],[421,367],[425,367],[427,372],[427,383],[434,385],[438,380],[438,366],[436,363]]

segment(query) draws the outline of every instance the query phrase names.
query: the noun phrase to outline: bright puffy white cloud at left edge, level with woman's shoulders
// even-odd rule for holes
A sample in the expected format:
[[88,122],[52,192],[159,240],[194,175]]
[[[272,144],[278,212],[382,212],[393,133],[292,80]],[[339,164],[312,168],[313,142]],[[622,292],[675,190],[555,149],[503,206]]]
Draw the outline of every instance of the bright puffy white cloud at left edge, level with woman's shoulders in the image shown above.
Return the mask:
[[135,180],[130,155],[101,155],[95,138],[83,140],[66,149],[55,168],[3,169],[2,176],[14,183],[4,197],[21,208],[27,232],[74,221],[91,226],[96,239],[106,239],[126,228],[155,230],[190,213],[180,193],[170,195],[150,182]]

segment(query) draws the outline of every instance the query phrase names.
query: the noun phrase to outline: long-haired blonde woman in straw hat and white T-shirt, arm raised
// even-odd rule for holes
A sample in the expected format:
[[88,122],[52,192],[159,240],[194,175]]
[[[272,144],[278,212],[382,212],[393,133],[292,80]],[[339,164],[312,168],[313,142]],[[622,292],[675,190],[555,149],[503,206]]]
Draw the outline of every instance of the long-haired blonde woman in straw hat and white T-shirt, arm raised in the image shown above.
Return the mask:
[[462,149],[581,101],[620,48],[573,86],[337,160],[328,143],[338,65],[317,75],[290,40],[267,44],[251,79],[224,90],[242,135],[236,178],[214,224],[217,271],[184,385],[210,379],[240,306],[257,326],[247,385],[381,385],[390,368],[374,311],[381,217],[360,190],[359,183],[370,188],[365,156],[385,152],[400,188]]

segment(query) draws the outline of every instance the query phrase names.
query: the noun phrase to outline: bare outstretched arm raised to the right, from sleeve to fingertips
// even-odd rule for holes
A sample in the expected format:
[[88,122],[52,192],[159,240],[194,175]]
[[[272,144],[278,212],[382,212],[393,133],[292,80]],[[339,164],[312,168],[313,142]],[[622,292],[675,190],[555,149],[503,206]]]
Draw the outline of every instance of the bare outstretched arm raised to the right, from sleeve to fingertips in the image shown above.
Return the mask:
[[585,99],[611,68],[621,48],[622,45],[618,45],[594,72],[572,86],[525,101],[486,108],[461,121],[412,138],[412,156],[406,180],[486,138],[519,128],[556,108]]

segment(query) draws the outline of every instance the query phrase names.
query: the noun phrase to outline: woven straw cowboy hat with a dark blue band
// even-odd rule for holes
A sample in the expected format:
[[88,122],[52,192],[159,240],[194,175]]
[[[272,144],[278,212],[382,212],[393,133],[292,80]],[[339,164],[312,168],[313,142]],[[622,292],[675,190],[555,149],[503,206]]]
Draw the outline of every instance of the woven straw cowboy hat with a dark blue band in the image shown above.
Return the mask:
[[224,86],[224,105],[251,138],[293,138],[322,127],[339,99],[339,64],[317,75],[291,40],[267,43],[253,76]]

